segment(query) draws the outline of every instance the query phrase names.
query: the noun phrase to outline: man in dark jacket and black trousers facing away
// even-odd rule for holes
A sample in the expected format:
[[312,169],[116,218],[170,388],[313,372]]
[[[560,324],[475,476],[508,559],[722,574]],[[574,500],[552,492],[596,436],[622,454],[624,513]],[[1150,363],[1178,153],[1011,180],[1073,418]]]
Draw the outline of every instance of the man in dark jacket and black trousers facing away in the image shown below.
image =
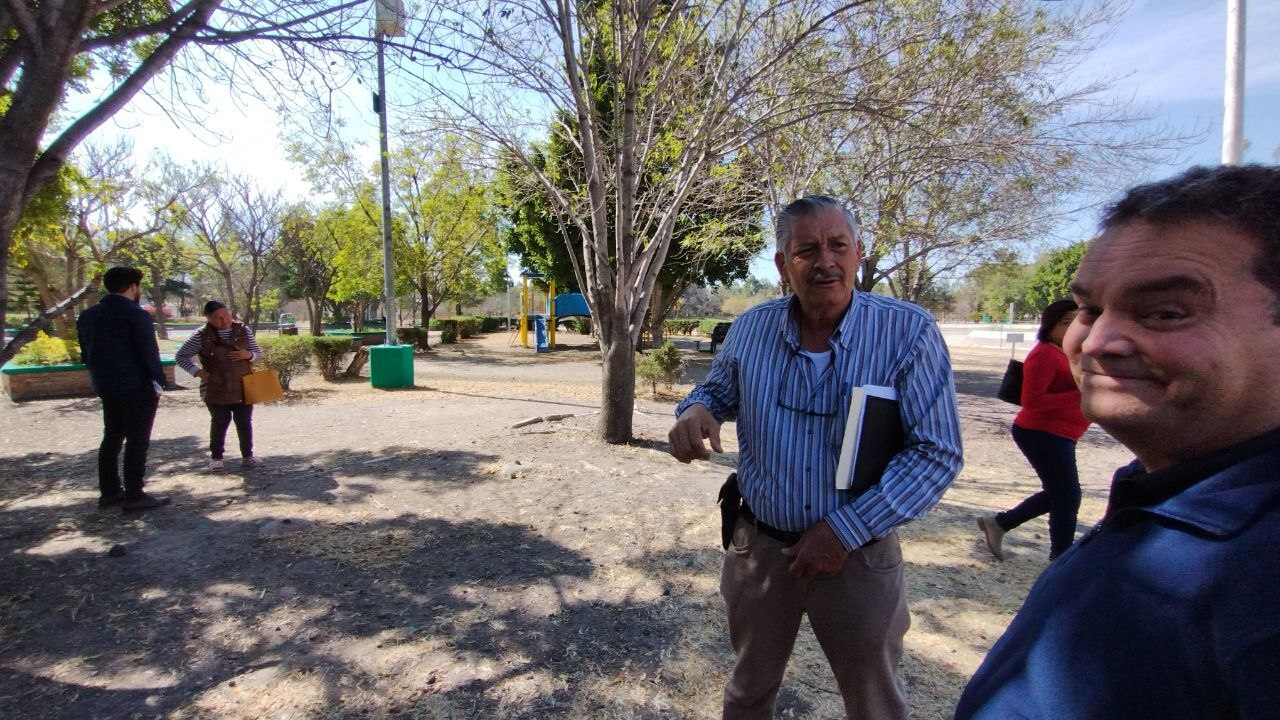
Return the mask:
[[[151,445],[151,423],[164,392],[151,315],[138,306],[142,270],[111,268],[102,275],[106,295],[81,313],[76,323],[81,357],[88,366],[93,393],[102,398],[102,445],[97,451],[99,507],[150,510],[169,498],[142,491]],[[124,447],[122,487],[118,460]]]

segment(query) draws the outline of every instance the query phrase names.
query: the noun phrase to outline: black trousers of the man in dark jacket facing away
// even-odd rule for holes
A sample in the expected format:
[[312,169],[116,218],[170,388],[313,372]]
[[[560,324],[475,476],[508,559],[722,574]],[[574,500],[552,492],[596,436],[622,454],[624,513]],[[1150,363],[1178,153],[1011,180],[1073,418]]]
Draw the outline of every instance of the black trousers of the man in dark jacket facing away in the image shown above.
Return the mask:
[[[97,448],[97,489],[104,496],[138,495],[147,470],[151,424],[160,398],[152,391],[102,396],[102,445]],[[124,482],[120,487],[120,447],[124,447]]]

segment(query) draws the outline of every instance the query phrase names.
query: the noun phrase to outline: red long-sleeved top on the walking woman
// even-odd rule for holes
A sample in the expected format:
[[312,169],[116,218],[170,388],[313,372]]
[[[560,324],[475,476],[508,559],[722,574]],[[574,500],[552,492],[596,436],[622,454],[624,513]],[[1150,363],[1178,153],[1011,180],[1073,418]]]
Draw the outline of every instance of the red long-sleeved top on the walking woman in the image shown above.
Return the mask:
[[1080,413],[1080,388],[1066,354],[1052,342],[1038,342],[1023,364],[1023,409],[1014,424],[1068,439],[1080,439],[1089,420]]

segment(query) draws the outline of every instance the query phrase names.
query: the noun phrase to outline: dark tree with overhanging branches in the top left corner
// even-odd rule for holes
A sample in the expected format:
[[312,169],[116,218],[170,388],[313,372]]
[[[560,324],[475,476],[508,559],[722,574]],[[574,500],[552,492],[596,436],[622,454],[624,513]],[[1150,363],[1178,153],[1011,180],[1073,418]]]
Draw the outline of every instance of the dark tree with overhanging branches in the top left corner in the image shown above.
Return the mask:
[[[324,78],[326,73],[315,70],[326,68],[315,55],[338,50],[352,37],[365,18],[357,5],[323,0],[5,3],[0,10],[0,325],[19,218],[93,131],[152,78],[174,68],[168,90],[175,91],[178,101],[168,105],[170,117],[202,108],[204,102],[188,102],[183,91],[198,95],[210,78],[252,87],[244,77],[250,68]],[[255,40],[274,42],[248,42]],[[187,65],[182,51],[192,45],[209,51]],[[96,100],[69,110],[72,94],[90,92]],[[74,305],[63,300],[58,302],[63,311]],[[32,337],[19,334],[10,341],[0,363]]]

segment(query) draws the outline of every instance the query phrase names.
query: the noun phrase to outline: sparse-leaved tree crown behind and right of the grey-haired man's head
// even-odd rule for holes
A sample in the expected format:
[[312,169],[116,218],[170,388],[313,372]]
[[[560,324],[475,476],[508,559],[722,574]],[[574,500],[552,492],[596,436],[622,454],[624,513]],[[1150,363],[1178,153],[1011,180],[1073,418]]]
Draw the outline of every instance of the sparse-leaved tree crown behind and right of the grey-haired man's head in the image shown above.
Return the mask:
[[1152,131],[1105,79],[1069,81],[1123,6],[925,0],[846,26],[872,59],[863,81],[897,87],[900,109],[771,138],[759,151],[777,169],[774,197],[852,200],[868,231],[860,287],[887,282],[908,300],[993,249],[1042,241],[1073,200],[1112,192],[1192,140]]

